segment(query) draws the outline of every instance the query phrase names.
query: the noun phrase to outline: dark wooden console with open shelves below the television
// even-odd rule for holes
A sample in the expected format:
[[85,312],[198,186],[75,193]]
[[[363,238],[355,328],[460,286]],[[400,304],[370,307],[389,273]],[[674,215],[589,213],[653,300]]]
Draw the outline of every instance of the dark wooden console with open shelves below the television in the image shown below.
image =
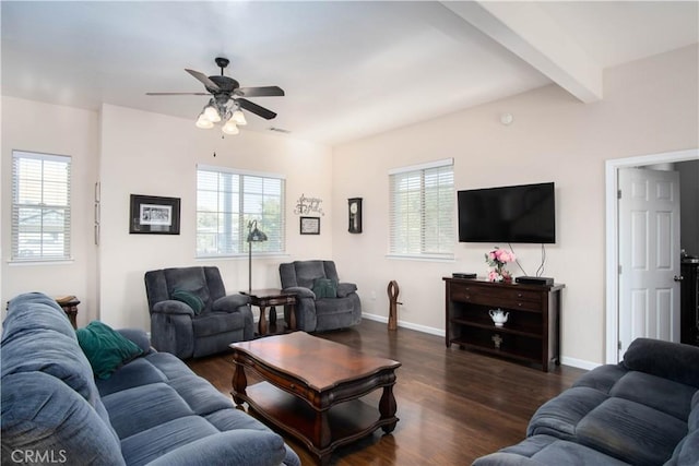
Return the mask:
[[[446,284],[446,343],[462,348],[541,365],[548,371],[559,363],[560,294],[553,286],[443,278]],[[488,314],[509,312],[502,326]]]

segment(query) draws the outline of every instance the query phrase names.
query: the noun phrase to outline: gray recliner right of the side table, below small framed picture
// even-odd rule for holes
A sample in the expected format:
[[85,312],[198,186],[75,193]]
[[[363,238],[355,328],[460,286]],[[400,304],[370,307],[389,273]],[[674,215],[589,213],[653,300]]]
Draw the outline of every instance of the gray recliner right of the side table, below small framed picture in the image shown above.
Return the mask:
[[[280,278],[284,291],[296,294],[298,330],[323,332],[362,322],[362,302],[356,292],[357,286],[340,283],[333,261],[295,261],[280,264]],[[286,321],[288,322],[288,315]]]

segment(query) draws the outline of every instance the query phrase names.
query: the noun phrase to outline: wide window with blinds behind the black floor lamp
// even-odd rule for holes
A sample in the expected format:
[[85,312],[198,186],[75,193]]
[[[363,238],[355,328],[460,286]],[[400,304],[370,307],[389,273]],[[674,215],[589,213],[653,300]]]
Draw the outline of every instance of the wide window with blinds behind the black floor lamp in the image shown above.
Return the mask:
[[221,167],[197,168],[197,256],[248,252],[248,223],[268,237],[253,252],[284,252],[284,190],[281,175]]

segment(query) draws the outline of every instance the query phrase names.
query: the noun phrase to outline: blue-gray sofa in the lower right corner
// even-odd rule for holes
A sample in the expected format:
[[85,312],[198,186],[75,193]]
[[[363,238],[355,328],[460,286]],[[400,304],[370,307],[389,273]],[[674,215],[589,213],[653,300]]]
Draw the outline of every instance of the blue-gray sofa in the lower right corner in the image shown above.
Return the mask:
[[699,347],[633,340],[542,405],[525,440],[473,465],[699,465]]

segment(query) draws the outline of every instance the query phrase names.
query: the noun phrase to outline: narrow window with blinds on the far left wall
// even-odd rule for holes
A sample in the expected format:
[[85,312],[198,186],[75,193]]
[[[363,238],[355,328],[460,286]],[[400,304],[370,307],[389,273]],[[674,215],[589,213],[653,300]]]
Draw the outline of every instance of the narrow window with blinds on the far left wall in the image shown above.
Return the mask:
[[12,152],[12,261],[70,260],[70,157]]

